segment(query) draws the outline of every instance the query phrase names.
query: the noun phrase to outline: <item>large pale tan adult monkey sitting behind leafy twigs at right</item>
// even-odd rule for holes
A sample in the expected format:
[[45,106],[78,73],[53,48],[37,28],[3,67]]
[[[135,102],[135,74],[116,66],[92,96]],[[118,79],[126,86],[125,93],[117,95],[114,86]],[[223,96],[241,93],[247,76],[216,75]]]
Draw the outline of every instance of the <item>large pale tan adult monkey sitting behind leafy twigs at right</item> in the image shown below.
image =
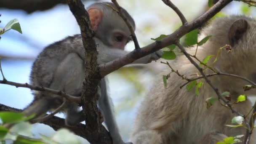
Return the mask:
[[[229,16],[214,20],[201,31],[200,39],[213,35],[207,43],[198,47],[197,58],[204,59],[208,55],[217,55],[219,48],[228,44],[232,52],[224,49],[219,53],[218,60],[212,65],[219,72],[225,72],[247,77],[256,82],[256,20],[245,16]],[[196,47],[187,48],[187,52],[194,55]],[[214,59],[208,64],[212,64]],[[179,70],[184,77],[193,77],[200,73],[183,55],[175,61],[169,62],[174,69]],[[159,76],[168,74],[165,69]],[[212,73],[209,69],[206,74]],[[160,77],[159,77],[160,78]],[[237,96],[246,94],[243,86],[248,84],[241,79],[229,76],[209,77],[211,83],[220,91],[229,91],[230,103],[243,115],[250,112],[250,101],[233,104]],[[144,98],[131,135],[133,144],[216,144],[227,136],[244,134],[245,128],[230,128],[233,117],[237,116],[229,108],[219,102],[206,108],[205,99],[215,97],[216,93],[203,80],[199,96],[195,90],[187,91],[179,88],[186,83],[175,73],[168,78],[168,86],[164,88],[160,80],[152,91]],[[247,94],[254,94],[255,90]],[[249,119],[250,115],[247,116]],[[256,144],[256,131],[253,131],[250,144]]]

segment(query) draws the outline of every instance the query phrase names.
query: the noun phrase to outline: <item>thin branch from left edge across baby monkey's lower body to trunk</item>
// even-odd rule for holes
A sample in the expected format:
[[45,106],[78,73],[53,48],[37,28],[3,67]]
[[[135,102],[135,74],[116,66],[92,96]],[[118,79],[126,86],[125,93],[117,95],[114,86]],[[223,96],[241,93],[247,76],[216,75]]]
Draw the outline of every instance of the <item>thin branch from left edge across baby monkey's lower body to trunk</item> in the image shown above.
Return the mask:
[[16,88],[19,88],[19,87],[30,88],[31,90],[35,90],[35,91],[47,91],[49,93],[53,93],[53,94],[56,94],[59,96],[64,96],[69,101],[76,102],[77,104],[80,104],[80,102],[81,102],[80,96],[71,96],[63,91],[53,90],[51,88],[29,85],[28,83],[15,83],[15,82],[11,82],[8,80],[0,80],[0,84],[13,85],[13,86],[16,86]]

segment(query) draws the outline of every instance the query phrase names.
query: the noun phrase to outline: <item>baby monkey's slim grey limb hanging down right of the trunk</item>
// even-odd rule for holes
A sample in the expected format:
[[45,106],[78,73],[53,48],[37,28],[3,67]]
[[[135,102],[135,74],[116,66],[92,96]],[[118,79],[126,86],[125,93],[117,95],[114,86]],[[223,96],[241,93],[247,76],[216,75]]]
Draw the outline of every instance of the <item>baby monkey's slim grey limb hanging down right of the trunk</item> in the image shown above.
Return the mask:
[[115,120],[115,112],[111,98],[107,94],[106,78],[101,79],[101,97],[99,98],[99,108],[103,112],[104,122],[107,125],[109,133],[112,137],[113,144],[123,144],[118,126]]

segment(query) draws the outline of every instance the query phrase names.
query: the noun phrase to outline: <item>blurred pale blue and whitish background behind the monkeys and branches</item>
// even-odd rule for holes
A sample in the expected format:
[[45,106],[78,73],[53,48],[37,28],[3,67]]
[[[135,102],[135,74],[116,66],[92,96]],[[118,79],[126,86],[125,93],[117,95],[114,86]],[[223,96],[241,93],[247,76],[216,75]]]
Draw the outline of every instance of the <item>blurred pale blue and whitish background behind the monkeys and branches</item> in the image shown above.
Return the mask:
[[[19,0],[19,3],[22,1]],[[97,0],[97,2],[100,1],[103,0]],[[87,7],[95,1],[84,0],[83,2]],[[172,0],[172,2],[184,13],[188,21],[192,21],[208,10],[208,0]],[[2,14],[0,27],[4,27],[11,19],[18,19],[23,32],[21,35],[11,30],[1,35],[0,57],[7,80],[28,83],[32,63],[40,51],[51,43],[80,33],[80,29],[66,4],[57,4],[45,11],[33,11],[31,10],[33,6],[30,4],[24,4],[24,9],[27,11],[12,10],[16,5],[20,5],[17,3],[16,0],[0,0]],[[136,22],[135,33],[141,47],[152,43],[150,38],[171,34],[181,25],[176,13],[161,0],[118,0],[118,3],[133,16]],[[234,1],[224,8],[219,16],[229,14],[255,16],[256,9]],[[132,51],[133,48],[134,45],[130,42],[126,50]],[[165,68],[165,65],[153,61],[147,66],[125,67],[108,75],[109,95],[113,99],[117,122],[125,141],[128,141],[141,99],[152,87],[154,75],[162,68]],[[1,76],[0,79],[2,79]],[[1,104],[23,109],[31,101],[32,94],[28,88],[0,85]],[[63,114],[58,116],[64,117]],[[38,136],[38,133],[47,136],[54,133],[52,128],[43,124],[35,124],[33,132],[35,136]],[[84,139],[81,138],[81,141],[86,144]]]

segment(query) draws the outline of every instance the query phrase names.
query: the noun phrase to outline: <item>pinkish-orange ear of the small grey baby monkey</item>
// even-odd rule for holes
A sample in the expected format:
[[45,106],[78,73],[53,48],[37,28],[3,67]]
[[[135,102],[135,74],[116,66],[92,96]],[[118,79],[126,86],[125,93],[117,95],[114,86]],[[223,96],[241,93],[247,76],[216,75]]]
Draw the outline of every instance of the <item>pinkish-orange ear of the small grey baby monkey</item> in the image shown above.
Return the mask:
[[96,32],[103,16],[102,11],[97,8],[90,8],[88,13],[93,31]]

